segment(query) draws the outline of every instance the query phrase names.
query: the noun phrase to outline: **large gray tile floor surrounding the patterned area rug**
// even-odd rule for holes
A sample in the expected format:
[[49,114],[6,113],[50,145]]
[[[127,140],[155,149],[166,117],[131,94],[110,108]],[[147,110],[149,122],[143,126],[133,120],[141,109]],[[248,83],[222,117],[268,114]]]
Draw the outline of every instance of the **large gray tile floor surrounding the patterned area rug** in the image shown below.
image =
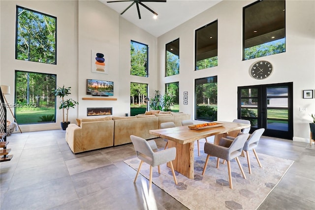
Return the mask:
[[[154,184],[150,200],[142,190],[146,179],[133,184],[136,172],[123,162],[135,157],[132,144],[74,155],[64,135],[50,130],[7,138],[14,156],[0,163],[1,210],[187,209]],[[165,142],[156,141],[163,149]],[[295,161],[258,210],[315,208],[315,145],[262,137],[256,151]]]

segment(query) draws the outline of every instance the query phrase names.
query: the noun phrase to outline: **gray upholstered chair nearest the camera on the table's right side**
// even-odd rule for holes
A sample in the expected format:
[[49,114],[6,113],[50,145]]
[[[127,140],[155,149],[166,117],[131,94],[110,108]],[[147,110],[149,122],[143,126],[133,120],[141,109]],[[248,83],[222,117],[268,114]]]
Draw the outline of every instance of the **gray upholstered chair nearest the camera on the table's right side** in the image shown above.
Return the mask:
[[240,167],[240,170],[242,172],[242,175],[243,175],[244,179],[246,179],[246,176],[244,174],[244,171],[243,171],[242,165],[238,159],[238,156],[241,155],[244,144],[245,144],[246,140],[248,139],[249,135],[250,134],[248,134],[248,133],[239,135],[238,137],[236,137],[234,139],[234,141],[226,139],[226,138],[221,138],[219,145],[205,143],[204,151],[208,155],[206,158],[206,162],[205,162],[205,166],[203,168],[202,175],[205,174],[209,157],[215,156],[215,157],[218,157],[217,168],[219,168],[220,158],[227,161],[228,179],[229,179],[231,189],[233,189],[233,186],[232,186],[230,160],[232,160],[234,158],[236,159],[238,166]]

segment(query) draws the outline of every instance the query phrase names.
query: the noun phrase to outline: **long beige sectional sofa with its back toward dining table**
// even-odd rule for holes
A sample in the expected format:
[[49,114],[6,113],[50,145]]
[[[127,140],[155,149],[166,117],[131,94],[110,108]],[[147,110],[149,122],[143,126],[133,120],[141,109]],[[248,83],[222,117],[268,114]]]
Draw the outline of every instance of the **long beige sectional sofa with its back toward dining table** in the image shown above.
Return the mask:
[[159,129],[160,123],[171,121],[181,126],[182,120],[190,120],[190,115],[146,112],[132,117],[77,119],[77,124],[68,125],[65,140],[73,153],[79,153],[130,143],[130,135],[144,139],[156,138],[149,131]]

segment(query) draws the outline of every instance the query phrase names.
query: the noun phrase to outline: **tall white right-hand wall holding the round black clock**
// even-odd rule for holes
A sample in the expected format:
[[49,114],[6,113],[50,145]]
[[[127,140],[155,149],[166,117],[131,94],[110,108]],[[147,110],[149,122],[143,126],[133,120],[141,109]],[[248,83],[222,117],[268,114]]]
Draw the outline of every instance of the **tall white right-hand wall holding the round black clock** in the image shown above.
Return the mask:
[[[225,0],[181,26],[158,37],[159,89],[180,82],[180,111],[193,113],[194,80],[218,76],[218,120],[237,118],[237,87],[293,82],[293,140],[309,141],[310,113],[315,99],[303,99],[302,90],[315,89],[315,1],[286,1],[286,52],[259,59],[242,60],[243,7],[253,1]],[[303,11],[303,12],[301,12]],[[218,20],[218,66],[194,71],[194,30]],[[164,77],[165,44],[180,38],[180,74]],[[273,74],[264,80],[252,79],[249,68],[257,60],[268,60]],[[189,103],[183,105],[183,91]],[[307,108],[300,112],[299,107]]]

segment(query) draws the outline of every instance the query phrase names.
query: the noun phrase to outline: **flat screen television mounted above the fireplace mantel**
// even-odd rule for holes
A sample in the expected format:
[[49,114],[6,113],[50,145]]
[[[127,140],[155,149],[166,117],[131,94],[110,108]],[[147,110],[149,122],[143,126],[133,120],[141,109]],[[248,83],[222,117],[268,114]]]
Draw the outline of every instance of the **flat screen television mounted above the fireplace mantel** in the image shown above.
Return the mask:
[[87,79],[87,95],[113,96],[114,82]]

